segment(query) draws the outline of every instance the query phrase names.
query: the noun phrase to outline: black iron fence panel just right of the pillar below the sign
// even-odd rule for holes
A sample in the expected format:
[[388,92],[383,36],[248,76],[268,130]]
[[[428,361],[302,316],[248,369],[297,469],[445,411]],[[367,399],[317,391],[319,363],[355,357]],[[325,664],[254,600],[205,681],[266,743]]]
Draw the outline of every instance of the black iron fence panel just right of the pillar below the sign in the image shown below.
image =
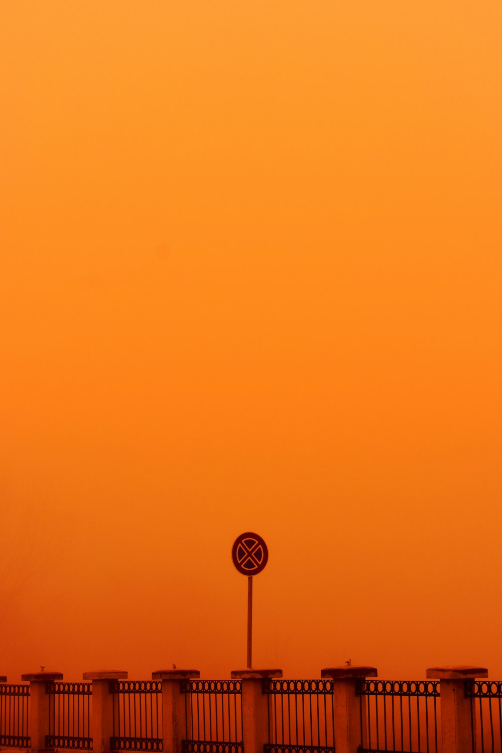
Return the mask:
[[269,696],[266,753],[334,751],[333,680],[263,681]]

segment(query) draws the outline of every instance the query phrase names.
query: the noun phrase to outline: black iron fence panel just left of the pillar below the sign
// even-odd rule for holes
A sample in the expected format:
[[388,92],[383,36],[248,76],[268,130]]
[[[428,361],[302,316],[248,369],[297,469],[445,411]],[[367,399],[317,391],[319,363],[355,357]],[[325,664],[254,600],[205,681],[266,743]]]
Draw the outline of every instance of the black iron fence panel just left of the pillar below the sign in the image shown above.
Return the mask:
[[[243,753],[240,680],[184,680],[183,753]],[[190,733],[190,734],[189,734]]]

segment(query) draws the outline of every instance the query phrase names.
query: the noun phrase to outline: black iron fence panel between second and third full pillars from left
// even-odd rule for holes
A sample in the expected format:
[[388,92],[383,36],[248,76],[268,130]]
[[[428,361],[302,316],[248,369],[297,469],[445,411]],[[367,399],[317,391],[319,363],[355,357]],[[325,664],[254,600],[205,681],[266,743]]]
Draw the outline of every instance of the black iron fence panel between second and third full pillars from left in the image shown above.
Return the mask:
[[162,751],[162,681],[112,680],[113,750]]

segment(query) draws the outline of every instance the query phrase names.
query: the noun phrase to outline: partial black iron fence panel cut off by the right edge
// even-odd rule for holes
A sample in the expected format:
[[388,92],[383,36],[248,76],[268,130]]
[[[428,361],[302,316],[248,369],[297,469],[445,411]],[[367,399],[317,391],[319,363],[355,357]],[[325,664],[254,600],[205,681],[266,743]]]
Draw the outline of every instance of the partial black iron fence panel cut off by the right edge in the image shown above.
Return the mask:
[[471,699],[470,728],[473,753],[502,750],[502,682],[473,681],[467,684]]

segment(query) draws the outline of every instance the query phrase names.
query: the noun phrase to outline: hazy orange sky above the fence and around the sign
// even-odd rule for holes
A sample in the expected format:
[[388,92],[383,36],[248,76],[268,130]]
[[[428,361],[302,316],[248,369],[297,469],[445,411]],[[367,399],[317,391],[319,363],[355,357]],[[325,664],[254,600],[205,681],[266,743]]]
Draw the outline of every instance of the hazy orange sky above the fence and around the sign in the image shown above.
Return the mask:
[[2,0],[0,674],[502,678],[502,5]]

